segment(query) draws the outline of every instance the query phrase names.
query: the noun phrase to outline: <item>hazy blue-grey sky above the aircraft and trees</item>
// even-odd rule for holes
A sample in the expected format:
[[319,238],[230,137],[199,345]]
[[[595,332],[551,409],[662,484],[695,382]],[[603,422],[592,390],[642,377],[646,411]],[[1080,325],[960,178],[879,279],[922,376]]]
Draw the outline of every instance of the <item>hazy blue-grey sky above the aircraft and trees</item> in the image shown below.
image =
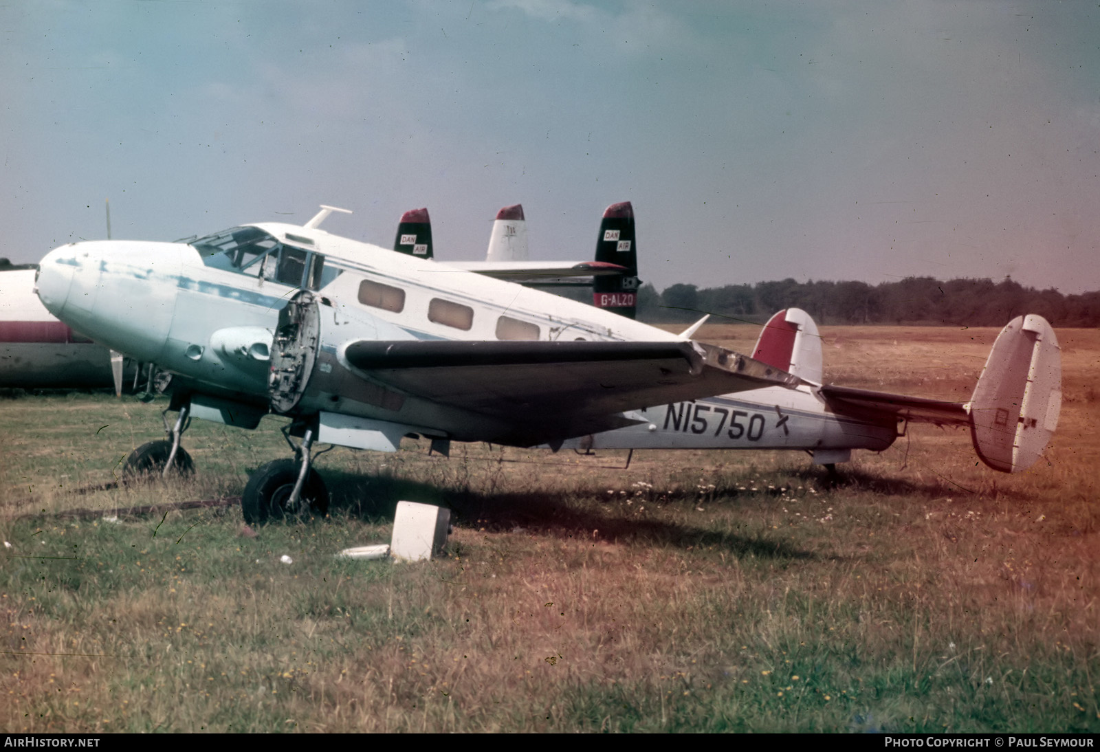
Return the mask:
[[1011,276],[1100,289],[1100,4],[0,0],[0,256],[305,223],[658,289]]

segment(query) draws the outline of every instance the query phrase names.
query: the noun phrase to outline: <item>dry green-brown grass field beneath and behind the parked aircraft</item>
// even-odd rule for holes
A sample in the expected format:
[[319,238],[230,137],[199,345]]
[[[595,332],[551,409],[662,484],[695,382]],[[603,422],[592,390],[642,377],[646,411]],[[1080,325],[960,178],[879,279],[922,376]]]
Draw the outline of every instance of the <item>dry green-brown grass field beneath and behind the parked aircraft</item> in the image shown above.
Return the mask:
[[[965,398],[996,334],[825,328],[826,379]],[[330,516],[255,537],[233,507],[63,513],[239,495],[289,456],[277,419],[196,421],[190,480],[77,494],[166,405],[2,399],[0,727],[1100,731],[1100,332],[1058,336],[1059,430],[1015,476],[932,427],[836,485],[800,454],[406,440],[324,454]],[[446,559],[333,556],[398,499],[453,510]]]

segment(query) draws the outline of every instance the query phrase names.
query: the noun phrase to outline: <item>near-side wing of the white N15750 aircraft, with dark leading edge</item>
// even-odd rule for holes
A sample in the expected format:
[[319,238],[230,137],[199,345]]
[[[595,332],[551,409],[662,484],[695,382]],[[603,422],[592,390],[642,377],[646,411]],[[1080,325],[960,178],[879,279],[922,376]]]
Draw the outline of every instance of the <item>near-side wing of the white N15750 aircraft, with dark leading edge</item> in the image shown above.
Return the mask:
[[348,363],[372,380],[514,427],[536,444],[622,428],[622,412],[801,379],[692,342],[358,341]]

